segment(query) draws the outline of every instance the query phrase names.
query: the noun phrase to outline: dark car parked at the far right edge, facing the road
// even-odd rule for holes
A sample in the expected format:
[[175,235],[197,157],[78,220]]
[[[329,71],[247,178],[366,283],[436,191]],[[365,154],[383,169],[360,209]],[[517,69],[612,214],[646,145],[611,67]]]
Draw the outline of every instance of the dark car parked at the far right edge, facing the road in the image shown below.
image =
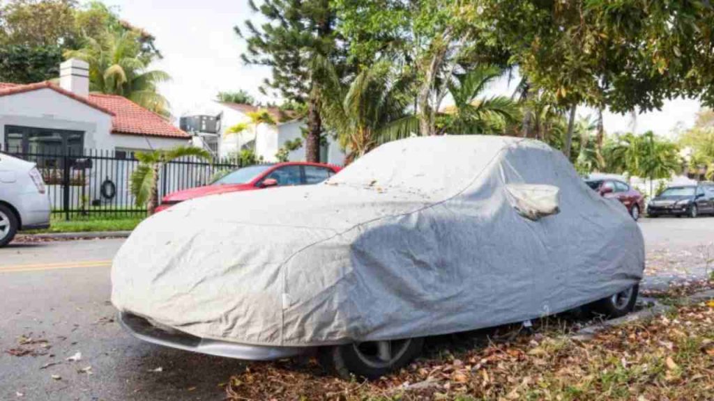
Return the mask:
[[695,218],[714,213],[714,186],[707,184],[670,186],[647,205],[647,215],[688,215]]

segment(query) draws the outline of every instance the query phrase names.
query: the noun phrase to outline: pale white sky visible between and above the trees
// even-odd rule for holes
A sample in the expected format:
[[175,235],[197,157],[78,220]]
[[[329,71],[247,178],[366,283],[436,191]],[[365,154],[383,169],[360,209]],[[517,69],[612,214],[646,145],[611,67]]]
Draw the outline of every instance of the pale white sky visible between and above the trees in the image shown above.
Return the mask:
[[[256,2],[259,0],[256,0]],[[141,26],[156,36],[156,46],[164,59],[152,68],[166,71],[173,78],[161,85],[175,116],[201,108],[218,91],[243,89],[261,101],[275,101],[258,92],[270,70],[246,66],[240,59],[246,46],[233,32],[246,19],[255,19],[247,0],[104,0],[115,6],[121,19]],[[516,80],[504,78],[491,86],[488,94],[511,95]],[[700,104],[696,100],[665,102],[661,111],[640,114],[636,131],[654,131],[671,136],[675,126],[692,126]],[[578,116],[594,116],[593,110],[580,108]],[[629,115],[605,113],[605,131],[631,131]]]

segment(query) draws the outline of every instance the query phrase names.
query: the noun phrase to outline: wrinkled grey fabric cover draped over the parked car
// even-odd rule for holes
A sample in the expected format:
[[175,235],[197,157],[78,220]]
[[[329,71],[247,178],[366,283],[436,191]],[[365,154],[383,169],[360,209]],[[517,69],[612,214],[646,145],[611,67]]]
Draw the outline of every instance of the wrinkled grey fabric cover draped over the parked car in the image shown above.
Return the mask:
[[198,198],[139,225],[111,300],[186,333],[308,346],[538,318],[638,283],[644,245],[559,152],[409,138],[315,186]]

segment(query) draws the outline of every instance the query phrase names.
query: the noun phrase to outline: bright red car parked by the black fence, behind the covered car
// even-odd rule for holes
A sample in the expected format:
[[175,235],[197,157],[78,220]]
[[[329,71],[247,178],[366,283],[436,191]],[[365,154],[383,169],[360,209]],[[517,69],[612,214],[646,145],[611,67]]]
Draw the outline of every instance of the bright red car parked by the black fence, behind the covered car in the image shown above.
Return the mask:
[[208,186],[169,193],[161,199],[156,212],[166,210],[183,200],[201,198],[218,193],[253,191],[273,186],[301,186],[316,184],[334,176],[341,167],[321,163],[288,162],[258,164],[238,168],[218,178]]

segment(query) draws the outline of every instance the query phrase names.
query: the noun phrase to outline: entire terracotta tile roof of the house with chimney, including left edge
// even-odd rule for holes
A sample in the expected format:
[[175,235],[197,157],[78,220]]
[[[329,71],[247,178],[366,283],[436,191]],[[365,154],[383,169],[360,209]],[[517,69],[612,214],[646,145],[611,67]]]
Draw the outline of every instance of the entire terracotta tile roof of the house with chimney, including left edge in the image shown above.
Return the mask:
[[109,114],[112,116],[112,133],[161,136],[165,138],[191,138],[188,133],[181,131],[181,129],[166,121],[159,114],[146,110],[146,108],[121,96],[90,93],[89,98],[84,98],[48,81],[29,83],[27,85],[0,82],[0,96],[36,91],[43,88],[59,92],[64,96]]

